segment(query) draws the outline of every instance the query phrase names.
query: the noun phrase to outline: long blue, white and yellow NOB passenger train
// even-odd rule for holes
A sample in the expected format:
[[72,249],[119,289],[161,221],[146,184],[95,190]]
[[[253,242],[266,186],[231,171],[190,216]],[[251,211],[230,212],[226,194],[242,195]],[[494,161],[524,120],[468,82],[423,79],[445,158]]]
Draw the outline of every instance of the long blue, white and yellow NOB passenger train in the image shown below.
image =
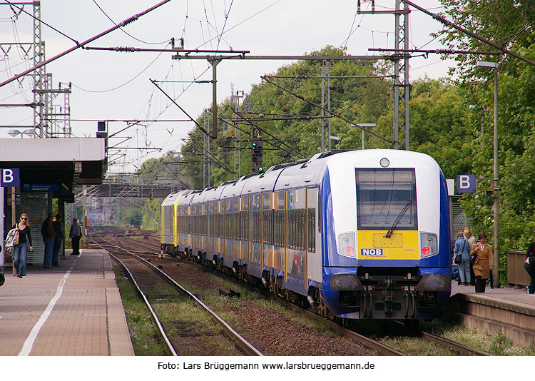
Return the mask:
[[162,203],[164,253],[326,317],[430,320],[451,290],[449,203],[434,159],[317,153]]

